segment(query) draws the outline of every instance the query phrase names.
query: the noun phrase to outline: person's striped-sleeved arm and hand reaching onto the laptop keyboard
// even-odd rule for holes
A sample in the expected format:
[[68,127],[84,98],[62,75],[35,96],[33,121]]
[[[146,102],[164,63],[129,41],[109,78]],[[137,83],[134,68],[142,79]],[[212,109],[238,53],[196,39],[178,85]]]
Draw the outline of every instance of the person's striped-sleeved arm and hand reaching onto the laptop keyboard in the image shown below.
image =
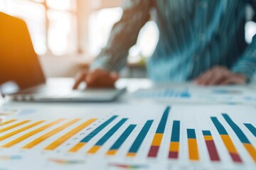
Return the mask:
[[114,87],[119,72],[127,62],[129,48],[137,42],[139,30],[149,21],[150,8],[154,0],[126,0],[122,18],[114,24],[110,39],[100,55],[90,66],[75,77],[73,89],[78,89],[82,81],[88,87]]

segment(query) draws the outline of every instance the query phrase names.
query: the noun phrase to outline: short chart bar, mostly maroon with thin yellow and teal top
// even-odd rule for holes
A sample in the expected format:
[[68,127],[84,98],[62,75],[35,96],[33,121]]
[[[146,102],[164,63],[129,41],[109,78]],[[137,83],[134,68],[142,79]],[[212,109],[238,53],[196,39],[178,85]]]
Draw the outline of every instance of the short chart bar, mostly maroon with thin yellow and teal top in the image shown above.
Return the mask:
[[203,130],[203,137],[204,137],[204,140],[206,141],[206,147],[210,155],[210,160],[219,162],[220,157],[218,155],[218,151],[216,149],[215,142],[213,140],[213,136],[210,133],[210,130]]

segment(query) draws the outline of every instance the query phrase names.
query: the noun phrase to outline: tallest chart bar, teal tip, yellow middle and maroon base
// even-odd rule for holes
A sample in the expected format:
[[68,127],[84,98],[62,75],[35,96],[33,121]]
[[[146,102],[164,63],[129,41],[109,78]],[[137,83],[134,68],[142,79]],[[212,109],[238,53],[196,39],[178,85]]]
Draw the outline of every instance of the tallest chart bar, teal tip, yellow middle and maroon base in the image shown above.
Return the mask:
[[149,149],[148,157],[157,157],[159,152],[159,148],[161,145],[161,141],[164,135],[164,129],[166,128],[166,122],[169,115],[170,107],[167,107],[164,111],[164,114],[161,117],[158,128],[156,129],[156,134],[154,135],[153,141],[151,143],[151,147]]

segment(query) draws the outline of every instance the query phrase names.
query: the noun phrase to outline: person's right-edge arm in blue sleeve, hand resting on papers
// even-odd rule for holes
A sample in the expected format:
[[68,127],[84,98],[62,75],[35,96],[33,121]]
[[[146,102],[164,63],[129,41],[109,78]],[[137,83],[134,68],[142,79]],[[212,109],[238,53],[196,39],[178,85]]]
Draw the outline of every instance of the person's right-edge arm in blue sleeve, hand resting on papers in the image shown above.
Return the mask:
[[[256,0],[250,0],[255,10],[253,21],[256,22]],[[248,45],[242,57],[231,69],[226,67],[213,67],[201,74],[195,81],[199,85],[227,85],[246,84],[252,80],[256,70],[256,35],[252,43]]]

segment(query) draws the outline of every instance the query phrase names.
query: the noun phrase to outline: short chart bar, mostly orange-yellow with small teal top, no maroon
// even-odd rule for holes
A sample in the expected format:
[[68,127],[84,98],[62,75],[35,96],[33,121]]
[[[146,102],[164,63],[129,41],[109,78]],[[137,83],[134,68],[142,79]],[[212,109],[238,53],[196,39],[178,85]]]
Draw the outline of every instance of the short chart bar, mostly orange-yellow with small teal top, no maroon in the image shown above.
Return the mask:
[[187,129],[188,135],[188,154],[191,161],[199,160],[198,144],[196,141],[196,131],[194,129]]

